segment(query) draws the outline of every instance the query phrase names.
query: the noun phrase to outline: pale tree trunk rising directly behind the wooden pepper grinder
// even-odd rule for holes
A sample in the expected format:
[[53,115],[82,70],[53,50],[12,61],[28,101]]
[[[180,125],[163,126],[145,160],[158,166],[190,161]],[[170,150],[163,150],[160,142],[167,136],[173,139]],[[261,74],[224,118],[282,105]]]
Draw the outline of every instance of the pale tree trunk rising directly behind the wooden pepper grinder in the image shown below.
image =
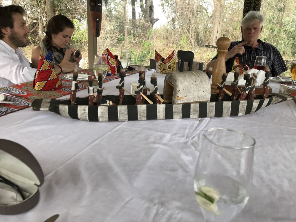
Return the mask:
[[213,27],[211,30],[210,45],[216,45],[216,41],[221,37],[221,25],[223,23],[223,11],[225,0],[214,0]]

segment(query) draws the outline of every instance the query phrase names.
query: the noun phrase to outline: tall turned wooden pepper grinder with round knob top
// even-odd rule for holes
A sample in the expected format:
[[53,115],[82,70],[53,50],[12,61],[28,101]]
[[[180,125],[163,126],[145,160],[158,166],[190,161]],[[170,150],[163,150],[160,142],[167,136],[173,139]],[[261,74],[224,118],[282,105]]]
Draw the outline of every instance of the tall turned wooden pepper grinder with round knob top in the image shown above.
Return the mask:
[[211,85],[211,92],[212,93],[219,93],[219,89],[217,89],[218,85],[217,83],[221,82],[221,78],[223,73],[226,73],[226,66],[225,66],[225,57],[226,53],[228,52],[228,48],[230,46],[230,39],[225,37],[218,38],[217,42],[217,61],[213,69],[213,74],[212,74],[212,85]]

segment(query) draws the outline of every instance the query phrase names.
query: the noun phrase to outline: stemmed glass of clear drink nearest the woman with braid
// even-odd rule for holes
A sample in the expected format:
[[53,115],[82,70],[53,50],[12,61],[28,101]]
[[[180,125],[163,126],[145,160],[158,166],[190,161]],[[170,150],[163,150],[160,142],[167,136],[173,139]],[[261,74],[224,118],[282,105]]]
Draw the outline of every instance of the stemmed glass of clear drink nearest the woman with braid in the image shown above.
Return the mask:
[[[98,89],[102,88],[102,83],[107,75],[108,71],[108,61],[106,55],[95,55],[94,56],[94,75],[98,80]],[[100,82],[100,77],[102,75],[102,81]]]

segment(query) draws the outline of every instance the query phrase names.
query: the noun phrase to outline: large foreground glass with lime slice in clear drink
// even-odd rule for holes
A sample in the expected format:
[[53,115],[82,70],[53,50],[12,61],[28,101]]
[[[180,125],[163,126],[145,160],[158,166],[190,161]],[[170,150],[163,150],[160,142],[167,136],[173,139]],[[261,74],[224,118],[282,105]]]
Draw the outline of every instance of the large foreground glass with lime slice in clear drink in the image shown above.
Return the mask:
[[255,139],[222,128],[201,136],[194,175],[196,199],[207,222],[229,222],[249,200]]

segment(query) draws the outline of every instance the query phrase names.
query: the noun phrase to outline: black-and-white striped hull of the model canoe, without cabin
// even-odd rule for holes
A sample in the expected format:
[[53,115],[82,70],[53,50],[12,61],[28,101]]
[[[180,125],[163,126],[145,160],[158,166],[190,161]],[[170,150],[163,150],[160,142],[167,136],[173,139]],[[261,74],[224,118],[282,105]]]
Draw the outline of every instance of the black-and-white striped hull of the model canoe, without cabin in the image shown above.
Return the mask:
[[[154,102],[153,96],[147,97]],[[254,100],[231,101],[230,96],[224,94],[221,102],[216,98],[217,94],[212,94],[210,102],[135,105],[136,99],[125,95],[123,105],[115,106],[88,106],[88,97],[76,98],[75,105],[70,105],[70,99],[35,99],[31,107],[35,111],[48,110],[68,118],[95,122],[211,118],[251,114],[269,105],[295,99],[295,96],[270,93],[266,99],[256,95]],[[118,103],[118,95],[106,95],[102,99]]]

